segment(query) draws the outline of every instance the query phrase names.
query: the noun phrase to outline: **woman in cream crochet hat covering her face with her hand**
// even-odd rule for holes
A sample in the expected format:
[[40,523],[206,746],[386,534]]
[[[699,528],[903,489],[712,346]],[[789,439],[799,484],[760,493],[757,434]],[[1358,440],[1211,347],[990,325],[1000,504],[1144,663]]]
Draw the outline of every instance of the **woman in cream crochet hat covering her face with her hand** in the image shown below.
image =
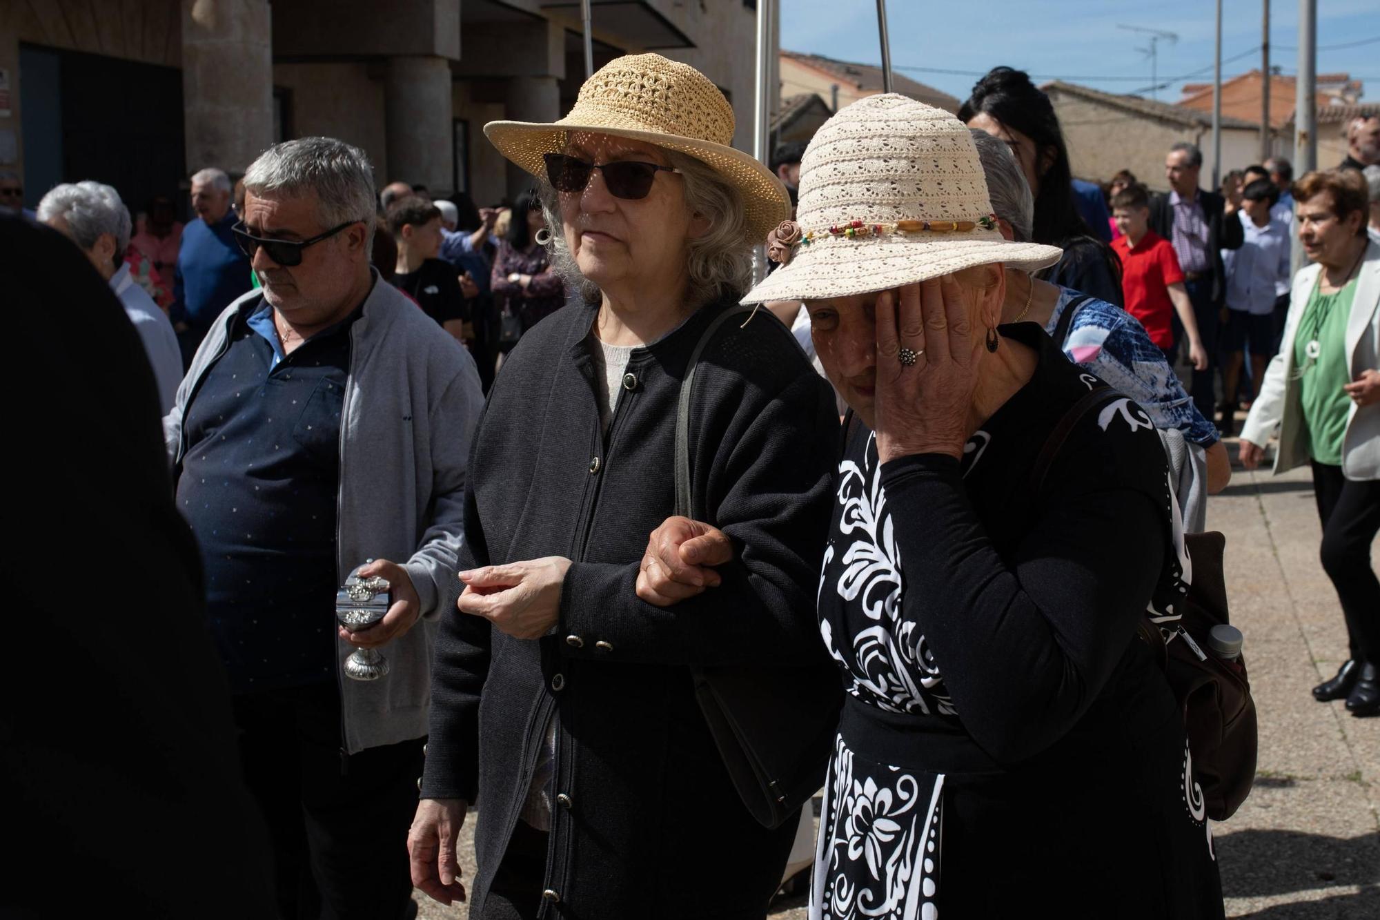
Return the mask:
[[853,410],[818,582],[846,695],[811,916],[1221,917],[1136,637],[1183,587],[1159,438],[1000,322],[1003,268],[1058,250],[1006,242],[967,128],[900,95],[820,130],[799,200],[747,300],[806,304]]

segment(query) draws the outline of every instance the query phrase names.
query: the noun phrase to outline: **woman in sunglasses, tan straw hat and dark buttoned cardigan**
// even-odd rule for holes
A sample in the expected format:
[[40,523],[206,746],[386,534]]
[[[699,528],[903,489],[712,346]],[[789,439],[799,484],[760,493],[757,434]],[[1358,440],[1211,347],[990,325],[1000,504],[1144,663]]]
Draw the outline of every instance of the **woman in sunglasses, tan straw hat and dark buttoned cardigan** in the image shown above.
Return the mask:
[[[523,336],[475,432],[413,879],[464,897],[455,837],[477,796],[473,917],[762,917],[795,822],[753,821],[691,667],[825,660],[810,611],[838,414],[771,316],[723,325],[696,365],[690,485],[722,529],[683,519],[676,542],[718,564],[707,593],[658,606],[636,586],[676,503],[691,352],[789,199],[729,146],[719,90],[654,54],[610,62],[555,124],[486,134],[544,181],[553,264],[584,303]],[[702,535],[733,559],[696,555]]]

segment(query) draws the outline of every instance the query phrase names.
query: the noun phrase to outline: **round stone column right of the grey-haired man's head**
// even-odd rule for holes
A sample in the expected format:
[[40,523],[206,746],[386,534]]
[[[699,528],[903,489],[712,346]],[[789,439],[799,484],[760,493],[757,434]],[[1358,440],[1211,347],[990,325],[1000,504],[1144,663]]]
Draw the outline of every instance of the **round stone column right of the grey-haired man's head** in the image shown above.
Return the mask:
[[433,196],[454,191],[450,84],[446,58],[389,58],[384,79],[389,174],[374,177],[379,188],[403,181],[425,185]]

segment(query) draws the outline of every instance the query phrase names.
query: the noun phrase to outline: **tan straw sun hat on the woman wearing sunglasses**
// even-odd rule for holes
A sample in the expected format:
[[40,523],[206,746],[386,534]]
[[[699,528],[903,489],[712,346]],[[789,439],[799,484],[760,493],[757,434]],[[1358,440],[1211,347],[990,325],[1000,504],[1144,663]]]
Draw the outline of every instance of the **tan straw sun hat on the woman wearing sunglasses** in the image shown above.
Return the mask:
[[629,54],[580,87],[570,115],[549,124],[490,122],[484,137],[533,175],[546,178],[544,153],[560,153],[574,131],[646,141],[707,163],[742,195],[751,243],[791,215],[785,186],[766,166],[733,149],[733,106],[709,77],[660,54]]

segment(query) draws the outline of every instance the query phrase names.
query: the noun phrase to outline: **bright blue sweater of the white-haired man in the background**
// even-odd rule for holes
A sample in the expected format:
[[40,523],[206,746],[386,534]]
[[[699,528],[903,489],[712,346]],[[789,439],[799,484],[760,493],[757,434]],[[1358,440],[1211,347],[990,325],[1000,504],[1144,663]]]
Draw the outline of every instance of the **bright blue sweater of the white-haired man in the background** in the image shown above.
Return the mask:
[[222,309],[253,286],[250,260],[230,232],[237,220],[229,210],[218,224],[195,220],[182,229],[170,311],[174,323],[204,332]]

